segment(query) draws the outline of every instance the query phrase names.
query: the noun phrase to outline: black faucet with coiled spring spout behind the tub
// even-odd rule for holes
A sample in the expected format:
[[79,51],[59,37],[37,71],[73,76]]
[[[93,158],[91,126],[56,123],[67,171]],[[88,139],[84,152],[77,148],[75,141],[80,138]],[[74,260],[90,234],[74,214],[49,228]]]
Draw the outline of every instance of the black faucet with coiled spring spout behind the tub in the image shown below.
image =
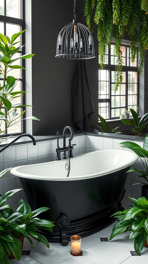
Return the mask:
[[[67,130],[70,130],[70,138],[68,139],[69,141],[69,146],[66,147],[66,131]],[[64,152],[63,154],[63,159],[66,159],[66,151],[69,151],[69,158],[72,158],[73,157],[73,154],[72,154],[72,150],[73,150],[73,146],[76,145],[76,144],[72,144],[71,145],[71,141],[73,139],[73,129],[71,128],[71,126],[66,126],[63,130],[63,148],[60,148],[59,147],[59,142],[58,142],[58,136],[59,136],[59,132],[57,132],[57,148],[56,148],[56,153],[57,153],[57,158],[56,160],[57,161],[60,161],[61,160],[61,156],[60,156],[60,153],[61,152]]]

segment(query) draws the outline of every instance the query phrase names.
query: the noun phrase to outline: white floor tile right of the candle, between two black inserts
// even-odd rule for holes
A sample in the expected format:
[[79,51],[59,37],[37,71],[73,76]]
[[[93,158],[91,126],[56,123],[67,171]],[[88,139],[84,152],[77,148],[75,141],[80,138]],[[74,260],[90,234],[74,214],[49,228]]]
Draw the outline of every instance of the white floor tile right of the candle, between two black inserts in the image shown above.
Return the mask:
[[83,251],[83,256],[98,264],[119,264],[131,256],[129,250],[110,242],[99,242]]

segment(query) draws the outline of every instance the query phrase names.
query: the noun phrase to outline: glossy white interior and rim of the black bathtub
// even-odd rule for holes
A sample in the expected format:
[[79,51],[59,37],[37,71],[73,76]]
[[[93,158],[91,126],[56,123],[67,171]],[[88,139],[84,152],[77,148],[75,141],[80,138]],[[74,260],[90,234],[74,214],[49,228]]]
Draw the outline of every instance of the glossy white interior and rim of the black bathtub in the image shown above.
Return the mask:
[[98,150],[70,159],[70,174],[65,166],[68,159],[46,163],[18,166],[11,174],[24,178],[41,180],[82,180],[106,175],[134,164],[138,156],[128,150]]

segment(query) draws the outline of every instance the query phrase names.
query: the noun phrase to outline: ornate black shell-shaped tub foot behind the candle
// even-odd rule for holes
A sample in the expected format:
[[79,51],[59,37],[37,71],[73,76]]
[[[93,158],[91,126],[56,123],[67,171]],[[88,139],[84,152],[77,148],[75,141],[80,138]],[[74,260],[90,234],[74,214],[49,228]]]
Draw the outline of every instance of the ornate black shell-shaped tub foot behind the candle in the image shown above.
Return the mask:
[[57,221],[57,225],[61,230],[61,245],[62,246],[68,245],[68,238],[66,235],[66,230],[67,230],[67,227],[69,224],[70,224],[70,220],[69,220],[68,216],[66,216],[64,214]]

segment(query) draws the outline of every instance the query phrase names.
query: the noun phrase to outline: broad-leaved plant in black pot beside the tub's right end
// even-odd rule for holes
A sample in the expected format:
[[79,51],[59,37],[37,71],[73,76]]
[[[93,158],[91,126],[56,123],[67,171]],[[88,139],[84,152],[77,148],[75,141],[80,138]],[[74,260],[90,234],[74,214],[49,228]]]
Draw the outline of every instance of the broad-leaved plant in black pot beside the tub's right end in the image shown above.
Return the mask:
[[130,141],[125,141],[120,143],[121,147],[123,148],[128,148],[133,150],[141,159],[141,162],[143,163],[144,166],[144,171],[140,171],[136,168],[132,168],[130,169],[128,172],[139,172],[140,175],[138,178],[143,178],[146,180],[146,182],[136,182],[133,185],[142,185],[141,188],[141,195],[145,196],[146,199],[148,199],[148,134],[145,137],[144,143],[143,143],[143,148],[141,148],[138,144],[134,143],[134,142],[130,142]]

